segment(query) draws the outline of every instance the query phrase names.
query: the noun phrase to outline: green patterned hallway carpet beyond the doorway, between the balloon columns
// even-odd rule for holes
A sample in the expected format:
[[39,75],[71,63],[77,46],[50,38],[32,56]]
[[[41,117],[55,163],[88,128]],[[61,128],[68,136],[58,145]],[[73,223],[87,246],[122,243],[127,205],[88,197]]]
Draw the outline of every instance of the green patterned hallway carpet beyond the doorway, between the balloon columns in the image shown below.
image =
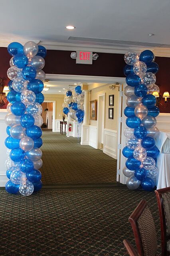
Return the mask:
[[78,139],[43,129],[42,182],[93,184],[116,182],[117,160],[100,149],[77,144]]

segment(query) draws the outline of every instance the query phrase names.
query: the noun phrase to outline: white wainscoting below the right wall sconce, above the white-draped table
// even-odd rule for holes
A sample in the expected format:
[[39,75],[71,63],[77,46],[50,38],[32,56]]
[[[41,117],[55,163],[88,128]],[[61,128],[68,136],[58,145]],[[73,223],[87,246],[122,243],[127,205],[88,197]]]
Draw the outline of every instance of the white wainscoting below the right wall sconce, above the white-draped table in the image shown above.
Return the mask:
[[170,113],[160,113],[156,117],[156,127],[161,130],[170,130]]

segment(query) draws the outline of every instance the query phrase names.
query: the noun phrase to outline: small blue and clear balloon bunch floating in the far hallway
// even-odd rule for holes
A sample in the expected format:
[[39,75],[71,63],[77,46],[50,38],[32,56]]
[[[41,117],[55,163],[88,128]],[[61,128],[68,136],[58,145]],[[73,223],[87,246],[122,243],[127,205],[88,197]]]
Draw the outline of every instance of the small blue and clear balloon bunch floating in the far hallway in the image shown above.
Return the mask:
[[63,103],[63,113],[69,115],[72,119],[78,123],[83,122],[84,116],[84,95],[82,95],[81,86],[77,85],[75,87],[75,94],[72,95],[71,91],[67,91],[64,103]]

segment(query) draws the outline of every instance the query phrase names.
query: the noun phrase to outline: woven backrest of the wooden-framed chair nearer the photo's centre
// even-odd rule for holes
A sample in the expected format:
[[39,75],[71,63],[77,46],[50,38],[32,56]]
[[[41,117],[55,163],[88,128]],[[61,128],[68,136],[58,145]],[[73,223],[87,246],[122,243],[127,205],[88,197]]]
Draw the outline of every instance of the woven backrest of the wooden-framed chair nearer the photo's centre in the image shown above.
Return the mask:
[[142,200],[128,218],[139,256],[156,256],[157,237],[152,214],[145,200]]

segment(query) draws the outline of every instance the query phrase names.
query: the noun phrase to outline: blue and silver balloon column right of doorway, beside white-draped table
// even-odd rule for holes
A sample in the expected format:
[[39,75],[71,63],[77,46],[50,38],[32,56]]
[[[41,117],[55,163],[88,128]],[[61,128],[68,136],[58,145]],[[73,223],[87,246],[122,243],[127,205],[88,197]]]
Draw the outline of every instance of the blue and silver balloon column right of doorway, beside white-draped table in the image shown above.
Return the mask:
[[159,149],[155,138],[159,131],[155,126],[155,117],[159,115],[159,108],[152,95],[155,91],[159,93],[155,84],[158,64],[154,62],[155,56],[150,50],[144,50],[139,56],[129,51],[124,59],[127,63],[124,68],[127,83],[124,90],[127,96],[124,110],[127,128],[124,135],[127,145],[122,153],[127,161],[123,173],[128,177],[129,189],[137,189],[141,185],[142,189],[152,191],[158,177],[155,165]]

